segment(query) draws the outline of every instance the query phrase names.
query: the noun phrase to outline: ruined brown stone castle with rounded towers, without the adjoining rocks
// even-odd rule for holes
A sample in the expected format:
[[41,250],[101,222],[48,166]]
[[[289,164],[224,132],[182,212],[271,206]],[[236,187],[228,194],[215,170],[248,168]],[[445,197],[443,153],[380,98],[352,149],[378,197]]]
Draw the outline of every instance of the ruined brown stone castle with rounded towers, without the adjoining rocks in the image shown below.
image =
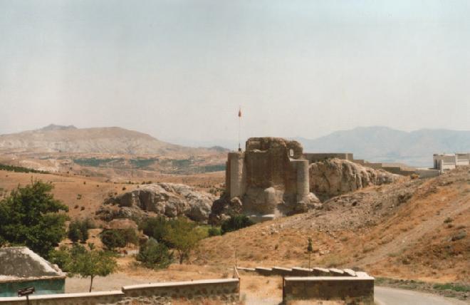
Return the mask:
[[318,202],[310,193],[302,145],[282,138],[250,138],[245,152],[229,153],[226,195],[258,215],[303,212]]

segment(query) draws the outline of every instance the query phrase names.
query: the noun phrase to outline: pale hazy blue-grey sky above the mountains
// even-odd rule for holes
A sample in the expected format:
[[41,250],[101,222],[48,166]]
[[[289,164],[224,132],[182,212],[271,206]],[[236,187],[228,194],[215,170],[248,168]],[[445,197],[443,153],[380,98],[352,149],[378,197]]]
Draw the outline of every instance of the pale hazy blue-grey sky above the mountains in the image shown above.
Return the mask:
[[0,134],[470,130],[470,1],[0,0]]

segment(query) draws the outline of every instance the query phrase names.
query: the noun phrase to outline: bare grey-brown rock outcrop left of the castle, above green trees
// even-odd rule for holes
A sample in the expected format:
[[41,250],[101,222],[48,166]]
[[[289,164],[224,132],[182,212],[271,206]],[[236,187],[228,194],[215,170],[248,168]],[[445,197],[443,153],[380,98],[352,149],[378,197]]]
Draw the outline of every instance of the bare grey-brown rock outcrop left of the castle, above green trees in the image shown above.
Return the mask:
[[197,222],[207,222],[215,199],[213,195],[197,192],[187,185],[156,183],[105,200],[96,214],[106,221],[162,215],[186,216]]

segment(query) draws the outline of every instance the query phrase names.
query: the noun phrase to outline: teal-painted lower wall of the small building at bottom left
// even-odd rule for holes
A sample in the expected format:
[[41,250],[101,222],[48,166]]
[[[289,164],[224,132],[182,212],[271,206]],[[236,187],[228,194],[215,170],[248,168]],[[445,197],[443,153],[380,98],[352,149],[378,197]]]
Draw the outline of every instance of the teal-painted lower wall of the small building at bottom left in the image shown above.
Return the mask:
[[63,294],[66,287],[65,276],[56,279],[36,279],[32,281],[9,281],[0,283],[0,297],[17,296],[22,288],[34,286],[35,294]]

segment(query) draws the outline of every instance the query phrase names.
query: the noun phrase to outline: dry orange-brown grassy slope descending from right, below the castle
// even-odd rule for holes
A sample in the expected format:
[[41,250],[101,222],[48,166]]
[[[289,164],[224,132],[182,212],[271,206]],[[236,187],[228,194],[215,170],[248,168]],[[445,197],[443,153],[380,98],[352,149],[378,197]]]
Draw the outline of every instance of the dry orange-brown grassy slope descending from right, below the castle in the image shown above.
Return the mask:
[[470,169],[333,197],[323,210],[202,241],[194,262],[364,269],[375,276],[470,281]]

